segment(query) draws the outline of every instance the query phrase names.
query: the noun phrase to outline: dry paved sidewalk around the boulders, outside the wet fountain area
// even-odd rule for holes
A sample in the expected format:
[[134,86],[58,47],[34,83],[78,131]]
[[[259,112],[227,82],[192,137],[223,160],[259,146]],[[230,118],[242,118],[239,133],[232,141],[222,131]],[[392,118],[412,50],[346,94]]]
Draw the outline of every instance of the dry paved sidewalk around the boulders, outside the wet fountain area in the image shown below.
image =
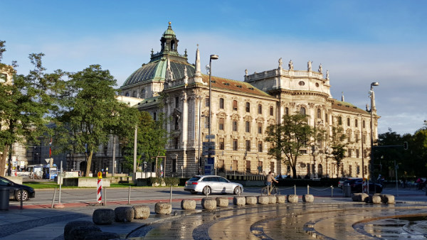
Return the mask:
[[[391,192],[387,192],[391,193]],[[392,194],[392,193],[391,193]],[[211,197],[220,197],[222,195],[211,195]],[[201,198],[203,196],[195,196],[196,211],[191,214],[204,212],[201,209]],[[228,195],[232,199],[232,195]],[[427,205],[427,196],[424,192],[409,192],[399,191],[399,196],[395,195],[397,204],[404,205]],[[148,219],[134,219],[128,223],[113,222],[111,225],[98,225],[102,231],[115,232],[125,238],[131,231],[143,226],[144,224],[152,224],[164,219],[171,219],[188,214],[181,210],[181,200],[172,201],[172,214],[157,215],[154,212],[154,205],[160,200],[144,200],[131,201],[130,205],[145,204],[148,205],[151,211]],[[162,200],[162,202],[169,202]],[[232,201],[231,201],[232,202]],[[334,204],[353,204],[349,197],[315,197],[315,203],[334,203]],[[303,204],[300,200],[298,204]],[[9,240],[24,240],[24,239],[40,239],[40,240],[62,240],[65,224],[71,221],[85,220],[92,222],[92,214],[98,208],[110,208],[129,206],[125,202],[107,202],[107,206],[95,206],[92,203],[73,203],[64,204],[63,209],[51,209],[50,205],[35,205],[26,206],[24,209],[19,207],[11,207],[9,211],[0,212],[0,239]],[[232,203],[230,208],[234,206]]]

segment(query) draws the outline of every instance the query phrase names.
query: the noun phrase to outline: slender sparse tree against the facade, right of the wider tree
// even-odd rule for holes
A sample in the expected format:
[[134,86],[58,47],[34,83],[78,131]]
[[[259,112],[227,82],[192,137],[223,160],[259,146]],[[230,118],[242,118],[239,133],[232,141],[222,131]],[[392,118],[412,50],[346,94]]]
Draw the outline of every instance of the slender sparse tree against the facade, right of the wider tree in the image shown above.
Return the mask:
[[339,166],[341,165],[342,160],[345,158],[345,153],[347,152],[346,148],[349,144],[344,142],[346,137],[347,136],[344,134],[344,129],[342,129],[342,126],[332,126],[331,158],[337,163],[337,174],[339,173]]

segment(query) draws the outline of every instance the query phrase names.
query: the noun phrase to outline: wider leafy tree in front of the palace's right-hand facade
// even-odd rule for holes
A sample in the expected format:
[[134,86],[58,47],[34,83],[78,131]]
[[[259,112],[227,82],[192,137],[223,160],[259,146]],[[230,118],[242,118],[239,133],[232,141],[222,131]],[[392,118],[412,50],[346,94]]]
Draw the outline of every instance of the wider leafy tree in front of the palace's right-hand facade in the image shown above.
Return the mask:
[[266,131],[265,141],[273,145],[268,154],[277,160],[282,160],[282,154],[285,154],[283,161],[290,165],[293,178],[297,178],[298,157],[302,155],[300,149],[310,146],[312,136],[316,136],[315,129],[307,123],[307,115],[284,115],[282,124],[270,125]]

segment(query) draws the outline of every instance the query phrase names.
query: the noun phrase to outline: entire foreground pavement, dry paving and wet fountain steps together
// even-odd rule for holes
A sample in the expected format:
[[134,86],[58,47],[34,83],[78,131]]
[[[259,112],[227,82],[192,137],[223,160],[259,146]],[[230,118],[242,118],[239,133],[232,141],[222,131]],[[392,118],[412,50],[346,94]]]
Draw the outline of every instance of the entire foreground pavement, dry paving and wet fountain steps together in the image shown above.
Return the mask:
[[[211,197],[223,197],[212,195]],[[128,223],[98,225],[102,231],[127,239],[426,239],[427,196],[407,192],[396,197],[396,204],[352,202],[349,197],[316,197],[313,203],[233,206],[214,211],[201,208],[201,196],[195,196],[196,210],[181,209],[181,200],[172,202],[172,214],[154,213],[157,201],[132,201],[131,205],[149,205],[148,219]],[[163,202],[165,202],[163,200]],[[0,239],[63,239],[70,221],[92,221],[98,208],[127,205],[107,202],[107,206],[65,204],[63,209],[48,206],[0,212]]]

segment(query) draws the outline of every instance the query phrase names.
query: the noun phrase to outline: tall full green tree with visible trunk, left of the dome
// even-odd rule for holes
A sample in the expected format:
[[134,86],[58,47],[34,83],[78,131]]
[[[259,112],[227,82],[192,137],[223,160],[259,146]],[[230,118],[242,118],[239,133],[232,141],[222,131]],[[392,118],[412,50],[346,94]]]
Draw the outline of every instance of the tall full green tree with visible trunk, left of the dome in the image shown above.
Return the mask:
[[88,176],[93,153],[107,144],[111,134],[129,138],[129,129],[137,121],[136,109],[117,101],[112,87],[116,80],[100,65],[90,65],[69,77],[56,121],[56,144],[58,151],[85,153]]

